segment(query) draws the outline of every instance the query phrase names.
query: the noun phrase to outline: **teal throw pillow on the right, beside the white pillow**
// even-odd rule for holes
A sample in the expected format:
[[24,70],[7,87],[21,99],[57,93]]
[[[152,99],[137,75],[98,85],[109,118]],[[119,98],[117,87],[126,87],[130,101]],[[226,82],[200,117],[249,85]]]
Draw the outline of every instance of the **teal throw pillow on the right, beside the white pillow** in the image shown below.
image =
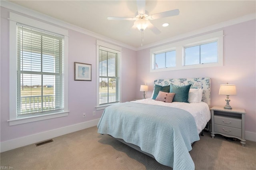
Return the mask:
[[191,85],[177,86],[170,85],[170,93],[175,93],[172,101],[188,103],[188,92]]

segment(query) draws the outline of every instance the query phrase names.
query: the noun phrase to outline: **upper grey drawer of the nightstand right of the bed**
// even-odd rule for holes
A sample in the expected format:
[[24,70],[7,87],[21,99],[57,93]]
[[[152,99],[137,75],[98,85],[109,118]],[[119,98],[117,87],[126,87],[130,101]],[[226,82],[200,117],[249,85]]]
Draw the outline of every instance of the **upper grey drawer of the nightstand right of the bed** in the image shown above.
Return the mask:
[[238,118],[222,117],[214,115],[214,124],[224,125],[228,127],[241,128],[242,120]]

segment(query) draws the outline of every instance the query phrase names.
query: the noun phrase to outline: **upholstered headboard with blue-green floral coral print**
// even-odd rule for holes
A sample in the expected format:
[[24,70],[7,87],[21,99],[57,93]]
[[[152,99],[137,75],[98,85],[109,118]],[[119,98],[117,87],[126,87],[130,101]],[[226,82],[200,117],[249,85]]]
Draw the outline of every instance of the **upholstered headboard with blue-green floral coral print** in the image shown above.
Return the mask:
[[154,81],[154,85],[167,86],[170,84],[183,86],[191,84],[190,88],[194,89],[202,89],[203,97],[202,101],[207,103],[210,107],[210,84],[211,79],[208,77],[201,78],[179,78],[179,79],[157,79]]

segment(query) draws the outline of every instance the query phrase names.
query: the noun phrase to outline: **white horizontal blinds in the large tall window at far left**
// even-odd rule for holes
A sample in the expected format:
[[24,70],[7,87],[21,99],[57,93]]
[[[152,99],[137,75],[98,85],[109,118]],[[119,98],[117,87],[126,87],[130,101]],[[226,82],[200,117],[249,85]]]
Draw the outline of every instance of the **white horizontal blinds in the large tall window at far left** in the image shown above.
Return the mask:
[[64,109],[64,36],[17,25],[18,117]]

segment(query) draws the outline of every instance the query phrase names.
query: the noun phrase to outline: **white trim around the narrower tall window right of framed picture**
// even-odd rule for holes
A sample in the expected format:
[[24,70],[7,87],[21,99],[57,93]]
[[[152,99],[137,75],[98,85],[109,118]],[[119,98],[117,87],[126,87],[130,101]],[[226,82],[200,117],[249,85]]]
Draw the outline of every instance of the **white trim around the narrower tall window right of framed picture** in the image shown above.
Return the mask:
[[106,47],[106,48],[108,48],[107,50],[109,50],[109,51],[111,51],[111,49],[113,49],[114,50],[114,52],[116,52],[116,51],[119,51],[120,52],[120,60],[119,60],[119,62],[120,62],[120,64],[119,64],[119,70],[120,70],[120,102],[118,102],[118,103],[121,103],[121,99],[122,99],[122,97],[121,97],[121,87],[122,87],[122,73],[121,73],[121,63],[122,63],[122,48],[121,47],[118,47],[118,46],[116,46],[116,45],[112,45],[112,44],[109,44],[109,43],[106,43],[106,42],[102,42],[102,41],[100,41],[100,40],[96,40],[96,45],[97,45],[97,71],[96,71],[96,73],[97,73],[97,83],[96,83],[96,87],[97,87],[97,90],[96,90],[96,93],[97,93],[97,95],[96,95],[96,98],[97,98],[97,104],[96,104],[96,110],[102,110],[102,109],[105,109],[106,107],[108,107],[108,106],[110,106],[110,105],[113,105],[114,103],[112,103],[112,104],[105,104],[105,105],[99,105],[99,103],[100,103],[100,101],[99,101],[99,93],[100,93],[100,91],[99,91],[99,85],[100,85],[100,82],[99,82],[99,50],[100,50],[100,46],[101,47]]

